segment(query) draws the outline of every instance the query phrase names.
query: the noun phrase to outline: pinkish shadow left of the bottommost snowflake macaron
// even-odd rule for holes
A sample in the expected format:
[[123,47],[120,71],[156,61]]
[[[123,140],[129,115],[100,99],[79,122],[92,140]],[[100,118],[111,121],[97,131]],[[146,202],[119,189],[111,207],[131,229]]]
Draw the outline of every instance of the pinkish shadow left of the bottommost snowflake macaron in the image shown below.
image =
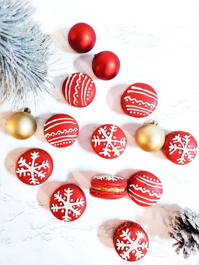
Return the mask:
[[114,248],[113,235],[115,229],[118,225],[126,221],[128,220],[112,219],[105,221],[98,228],[97,232],[98,239],[103,243],[103,245]]

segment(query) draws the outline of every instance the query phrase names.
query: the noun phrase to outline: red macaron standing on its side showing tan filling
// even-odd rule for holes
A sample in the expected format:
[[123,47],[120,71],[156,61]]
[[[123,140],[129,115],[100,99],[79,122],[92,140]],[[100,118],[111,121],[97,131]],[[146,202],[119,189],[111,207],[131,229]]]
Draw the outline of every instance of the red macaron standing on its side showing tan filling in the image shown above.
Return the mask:
[[127,182],[117,176],[95,176],[91,180],[90,194],[100,199],[120,199],[126,196]]

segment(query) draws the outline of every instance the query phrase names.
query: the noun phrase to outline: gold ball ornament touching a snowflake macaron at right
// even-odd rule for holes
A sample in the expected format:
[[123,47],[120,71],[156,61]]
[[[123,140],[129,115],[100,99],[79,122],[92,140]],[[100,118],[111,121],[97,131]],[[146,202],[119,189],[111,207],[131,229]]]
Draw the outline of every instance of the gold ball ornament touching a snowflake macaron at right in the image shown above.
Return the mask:
[[137,130],[135,140],[143,151],[155,152],[164,145],[165,135],[157,121],[153,121],[151,124],[143,125]]

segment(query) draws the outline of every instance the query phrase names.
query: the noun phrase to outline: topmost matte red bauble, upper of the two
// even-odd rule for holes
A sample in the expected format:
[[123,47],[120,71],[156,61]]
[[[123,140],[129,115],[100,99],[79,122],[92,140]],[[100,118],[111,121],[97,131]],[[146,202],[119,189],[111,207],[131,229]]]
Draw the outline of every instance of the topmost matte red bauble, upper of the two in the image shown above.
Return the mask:
[[86,23],[75,24],[68,32],[68,42],[73,50],[79,53],[88,52],[96,42],[94,29]]

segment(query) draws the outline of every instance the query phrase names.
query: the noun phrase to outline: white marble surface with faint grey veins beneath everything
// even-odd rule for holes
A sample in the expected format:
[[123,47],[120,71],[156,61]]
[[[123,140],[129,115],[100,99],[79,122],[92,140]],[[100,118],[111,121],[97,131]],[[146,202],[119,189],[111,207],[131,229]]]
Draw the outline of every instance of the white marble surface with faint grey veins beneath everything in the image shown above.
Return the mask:
[[[93,103],[82,109],[69,106],[60,91],[58,99],[46,98],[38,111],[32,110],[38,123],[35,135],[23,141],[8,135],[6,122],[12,112],[6,101],[0,104],[0,264],[127,264],[112,243],[113,230],[123,220],[136,221],[148,232],[148,253],[136,264],[198,264],[198,255],[184,260],[182,253],[175,254],[175,241],[167,231],[171,211],[187,206],[199,212],[199,156],[188,165],[175,165],[162,151],[142,151],[134,139],[137,128],[153,119],[165,134],[185,130],[199,142],[198,1],[31,2],[37,7],[35,19],[62,44],[66,69],[54,76],[86,72],[97,91]],[[78,22],[91,24],[97,35],[87,54],[73,52],[67,43],[68,29]],[[110,81],[97,79],[91,69],[93,55],[102,50],[115,52],[121,61],[119,74]],[[62,81],[55,80],[59,87]],[[134,82],[148,83],[158,93],[158,108],[150,117],[136,119],[121,110],[120,96]],[[78,121],[79,137],[70,147],[50,146],[43,136],[44,122],[56,113]],[[126,150],[117,159],[103,159],[92,151],[90,136],[105,123],[126,133]],[[31,147],[45,149],[54,161],[51,177],[35,187],[20,182],[14,172],[18,156]],[[155,206],[142,208],[128,197],[105,201],[89,195],[95,174],[128,179],[139,169],[153,172],[163,183],[164,193]],[[62,183],[75,183],[85,192],[87,208],[77,221],[59,221],[49,211],[49,196]]]

